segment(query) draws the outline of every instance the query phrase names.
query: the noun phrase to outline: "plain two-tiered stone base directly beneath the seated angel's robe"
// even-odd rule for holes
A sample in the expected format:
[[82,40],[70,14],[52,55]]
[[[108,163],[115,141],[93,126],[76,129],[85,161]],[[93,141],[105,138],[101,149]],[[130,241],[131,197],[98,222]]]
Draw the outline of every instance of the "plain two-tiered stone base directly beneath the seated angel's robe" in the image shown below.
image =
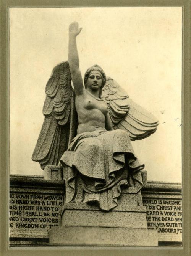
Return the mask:
[[129,206],[101,211],[95,205],[64,205],[62,226],[49,232],[57,246],[158,246],[157,231],[148,230],[146,207]]

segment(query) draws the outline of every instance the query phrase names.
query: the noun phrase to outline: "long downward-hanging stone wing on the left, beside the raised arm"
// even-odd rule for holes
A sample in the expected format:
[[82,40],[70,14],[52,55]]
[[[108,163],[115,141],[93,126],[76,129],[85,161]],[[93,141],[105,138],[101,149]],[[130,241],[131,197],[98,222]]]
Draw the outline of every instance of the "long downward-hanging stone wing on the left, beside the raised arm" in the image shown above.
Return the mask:
[[39,162],[42,169],[46,165],[58,165],[68,147],[74,93],[67,61],[53,69],[45,92],[44,123],[32,155],[32,160]]

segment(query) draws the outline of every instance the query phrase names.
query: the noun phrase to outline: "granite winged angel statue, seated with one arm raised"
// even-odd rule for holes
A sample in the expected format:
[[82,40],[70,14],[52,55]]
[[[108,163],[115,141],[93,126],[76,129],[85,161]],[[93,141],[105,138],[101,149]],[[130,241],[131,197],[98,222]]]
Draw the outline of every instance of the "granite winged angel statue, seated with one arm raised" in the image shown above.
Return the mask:
[[76,45],[80,32],[77,22],[70,24],[68,62],[58,64],[47,82],[45,119],[32,160],[42,169],[63,166],[65,203],[94,202],[109,211],[118,205],[121,185],[141,191],[144,165],[131,140],[154,133],[158,121],[100,66],[88,68],[83,82]]

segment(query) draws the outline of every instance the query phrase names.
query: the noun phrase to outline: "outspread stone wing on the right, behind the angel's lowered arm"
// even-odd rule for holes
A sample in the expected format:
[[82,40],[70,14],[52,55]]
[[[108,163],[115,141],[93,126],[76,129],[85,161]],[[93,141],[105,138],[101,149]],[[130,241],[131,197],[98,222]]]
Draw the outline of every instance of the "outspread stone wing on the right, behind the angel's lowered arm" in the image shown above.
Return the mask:
[[129,133],[131,140],[141,140],[157,130],[158,120],[134,101],[112,78],[107,77],[102,88],[113,122],[114,129],[123,129]]

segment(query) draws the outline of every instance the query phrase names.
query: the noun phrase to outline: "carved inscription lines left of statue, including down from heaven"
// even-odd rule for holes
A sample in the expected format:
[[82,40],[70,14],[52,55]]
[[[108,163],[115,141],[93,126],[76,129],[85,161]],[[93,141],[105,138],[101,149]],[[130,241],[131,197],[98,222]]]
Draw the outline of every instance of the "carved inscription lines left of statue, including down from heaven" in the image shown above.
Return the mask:
[[10,193],[10,231],[47,230],[60,223],[63,196]]

